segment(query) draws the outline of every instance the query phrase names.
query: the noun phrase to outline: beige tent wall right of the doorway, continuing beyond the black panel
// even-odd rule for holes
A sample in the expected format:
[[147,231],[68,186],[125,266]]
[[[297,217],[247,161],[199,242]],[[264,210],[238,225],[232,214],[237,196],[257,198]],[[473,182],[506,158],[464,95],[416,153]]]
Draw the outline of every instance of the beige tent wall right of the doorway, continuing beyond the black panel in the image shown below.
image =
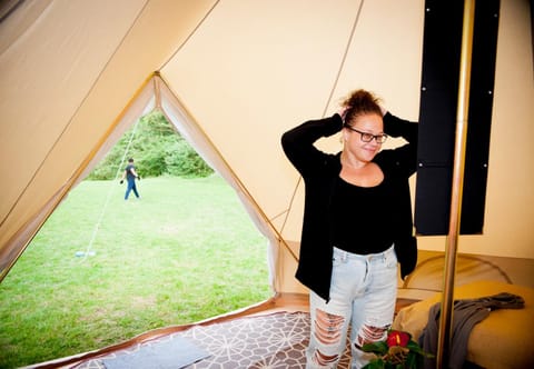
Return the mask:
[[[349,40],[357,11],[357,1],[338,1],[336,7],[309,1],[244,7],[225,1],[180,58],[162,69],[171,84],[179,84],[182,101],[284,240],[293,245],[291,253],[279,256],[277,269],[289,289],[296,268],[293,253],[298,255],[303,187],[279,149],[281,132],[333,113],[337,98],[359,87],[378,92],[394,113],[418,117],[424,1],[365,2]],[[528,102],[534,101],[528,13],[526,1],[502,1],[485,232],[462,237],[461,252],[510,256],[513,249],[514,257],[534,258],[528,221],[533,208],[524,206],[534,205],[528,186],[533,178],[518,168],[533,168],[534,158],[527,141],[534,113]],[[228,139],[230,134],[234,139]],[[340,148],[336,138],[322,144],[333,151]],[[419,248],[442,251],[445,237],[422,237]]]

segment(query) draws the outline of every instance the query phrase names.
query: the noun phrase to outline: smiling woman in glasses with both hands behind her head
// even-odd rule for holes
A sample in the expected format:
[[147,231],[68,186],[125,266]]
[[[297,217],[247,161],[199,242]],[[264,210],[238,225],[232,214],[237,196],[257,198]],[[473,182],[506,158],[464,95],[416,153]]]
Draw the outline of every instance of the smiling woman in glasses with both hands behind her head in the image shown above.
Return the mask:
[[[365,90],[342,106],[340,114],[307,121],[281,138],[306,190],[296,277],[310,289],[307,368],[335,368],[349,326],[352,368],[367,363],[362,346],[385,339],[393,321],[397,260],[404,278],[417,259],[408,184],[417,124],[383,112]],[[339,131],[340,152],[314,146]],[[380,150],[387,136],[408,143]]]

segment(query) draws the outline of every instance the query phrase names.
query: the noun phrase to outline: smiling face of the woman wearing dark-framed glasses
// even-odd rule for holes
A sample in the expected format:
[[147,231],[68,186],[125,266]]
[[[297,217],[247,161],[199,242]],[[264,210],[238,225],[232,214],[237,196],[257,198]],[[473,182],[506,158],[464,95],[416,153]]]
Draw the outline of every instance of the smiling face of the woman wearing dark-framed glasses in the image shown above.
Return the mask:
[[[348,123],[350,127],[343,129],[343,138],[345,141],[344,150],[348,150],[350,156],[362,162],[372,161],[382,149],[382,143],[375,138],[376,136],[384,134],[384,120],[382,116],[376,113],[358,116]],[[368,136],[365,133],[374,136],[369,142],[362,140],[363,136]],[[367,139],[369,137],[367,137]]]

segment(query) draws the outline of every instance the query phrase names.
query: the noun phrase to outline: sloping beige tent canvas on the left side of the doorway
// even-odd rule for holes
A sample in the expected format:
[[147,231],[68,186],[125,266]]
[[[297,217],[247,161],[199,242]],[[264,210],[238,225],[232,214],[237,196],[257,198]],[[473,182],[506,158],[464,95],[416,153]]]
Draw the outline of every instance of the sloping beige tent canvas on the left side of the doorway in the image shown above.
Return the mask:
[[[214,1],[53,1],[0,54],[0,276]],[[105,11],[102,10],[105,9]],[[29,1],[0,24],[33,16]],[[16,16],[17,14],[17,16]],[[152,42],[152,40],[158,40]],[[137,119],[137,117],[136,117]],[[126,127],[123,127],[126,128]],[[121,132],[118,131],[116,137]],[[58,201],[65,196],[61,193]],[[44,213],[48,216],[47,213]],[[19,237],[21,232],[24,237]],[[9,257],[8,257],[9,255]]]

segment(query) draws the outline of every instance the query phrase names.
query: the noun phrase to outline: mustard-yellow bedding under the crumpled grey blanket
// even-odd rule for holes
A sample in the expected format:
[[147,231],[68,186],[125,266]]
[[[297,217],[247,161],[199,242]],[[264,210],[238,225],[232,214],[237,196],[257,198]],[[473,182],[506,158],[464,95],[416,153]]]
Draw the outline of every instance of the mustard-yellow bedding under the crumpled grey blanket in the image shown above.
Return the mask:
[[[477,323],[469,335],[466,360],[483,368],[534,368],[534,289],[495,281],[477,281],[454,290],[454,299],[473,299],[508,292],[525,300],[523,309],[497,309]],[[442,301],[442,293],[415,302],[398,311],[393,328],[418,340],[428,322],[431,307]],[[454,312],[453,312],[454,319]]]

